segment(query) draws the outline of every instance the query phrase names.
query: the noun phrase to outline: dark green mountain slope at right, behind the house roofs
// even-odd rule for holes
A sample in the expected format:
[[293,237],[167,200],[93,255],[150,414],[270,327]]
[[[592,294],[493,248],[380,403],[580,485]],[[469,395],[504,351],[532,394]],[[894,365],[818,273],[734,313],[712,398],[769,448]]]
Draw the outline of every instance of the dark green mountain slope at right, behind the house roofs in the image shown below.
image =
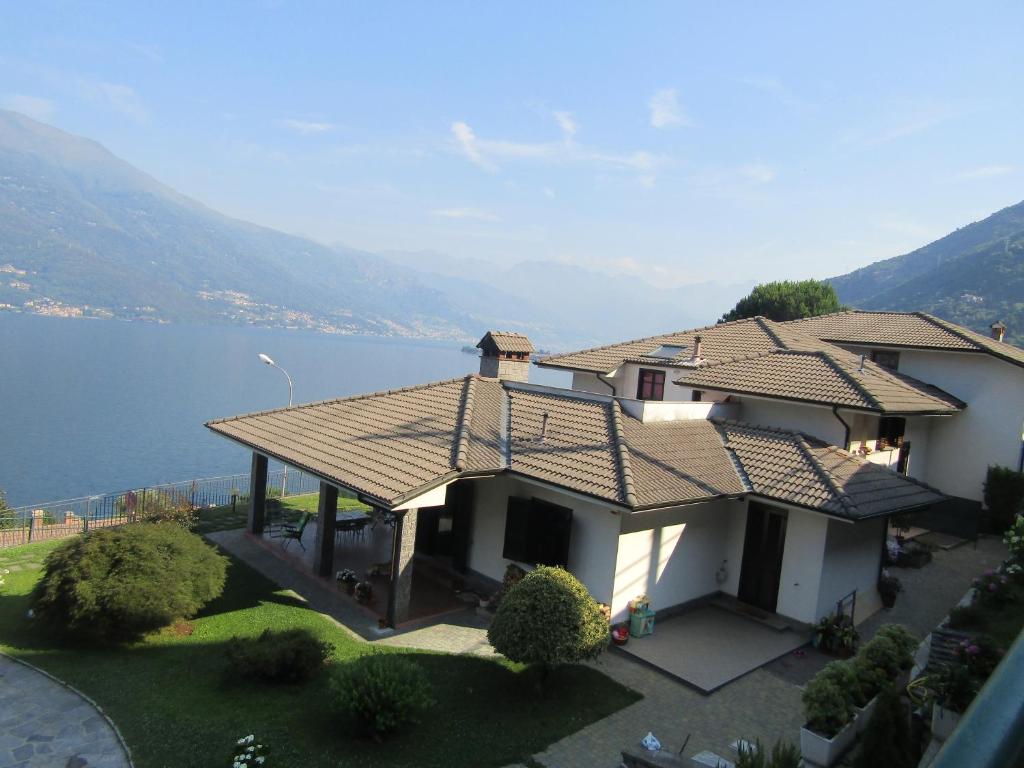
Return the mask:
[[916,251],[831,278],[861,309],[923,310],[987,333],[1001,319],[1024,342],[1024,202]]

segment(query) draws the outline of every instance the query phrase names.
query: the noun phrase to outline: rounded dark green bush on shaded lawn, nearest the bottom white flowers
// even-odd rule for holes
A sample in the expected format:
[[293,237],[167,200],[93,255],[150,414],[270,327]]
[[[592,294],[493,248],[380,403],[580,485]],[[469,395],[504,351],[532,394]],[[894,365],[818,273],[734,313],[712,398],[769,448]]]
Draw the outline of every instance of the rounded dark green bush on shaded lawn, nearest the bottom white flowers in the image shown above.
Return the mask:
[[332,680],[335,700],[361,730],[382,740],[434,705],[423,670],[407,656],[375,650]]

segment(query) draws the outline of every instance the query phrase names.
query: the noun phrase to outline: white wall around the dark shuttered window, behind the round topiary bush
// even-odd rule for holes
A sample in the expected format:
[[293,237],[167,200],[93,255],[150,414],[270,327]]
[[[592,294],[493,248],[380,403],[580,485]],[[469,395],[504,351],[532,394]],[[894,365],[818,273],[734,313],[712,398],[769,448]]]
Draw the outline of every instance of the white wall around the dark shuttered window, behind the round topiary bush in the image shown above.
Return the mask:
[[[600,602],[610,603],[614,582],[620,515],[600,504],[512,477],[488,477],[473,481],[473,521],[470,532],[469,567],[501,581],[511,560],[502,557],[505,514],[510,496],[538,498],[572,510],[569,539],[570,570]],[[528,567],[531,563],[520,563]]]

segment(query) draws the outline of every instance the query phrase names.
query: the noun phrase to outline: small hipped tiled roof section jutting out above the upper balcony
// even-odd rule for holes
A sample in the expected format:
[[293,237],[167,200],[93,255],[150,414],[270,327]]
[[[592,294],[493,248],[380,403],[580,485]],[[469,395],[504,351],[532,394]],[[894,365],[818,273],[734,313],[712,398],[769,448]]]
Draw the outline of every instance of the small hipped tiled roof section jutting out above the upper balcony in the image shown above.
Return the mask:
[[682,374],[679,383],[877,413],[955,413],[964,403],[942,390],[833,347],[778,350]]

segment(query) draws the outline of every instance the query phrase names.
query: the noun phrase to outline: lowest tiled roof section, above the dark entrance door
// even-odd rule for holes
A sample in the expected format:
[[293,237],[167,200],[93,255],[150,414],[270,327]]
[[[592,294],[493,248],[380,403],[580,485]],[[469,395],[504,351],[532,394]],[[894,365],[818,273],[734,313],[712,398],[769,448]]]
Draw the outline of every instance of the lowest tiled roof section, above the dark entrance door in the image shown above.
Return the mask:
[[937,490],[798,432],[720,422],[726,447],[758,496],[849,519],[942,501]]

